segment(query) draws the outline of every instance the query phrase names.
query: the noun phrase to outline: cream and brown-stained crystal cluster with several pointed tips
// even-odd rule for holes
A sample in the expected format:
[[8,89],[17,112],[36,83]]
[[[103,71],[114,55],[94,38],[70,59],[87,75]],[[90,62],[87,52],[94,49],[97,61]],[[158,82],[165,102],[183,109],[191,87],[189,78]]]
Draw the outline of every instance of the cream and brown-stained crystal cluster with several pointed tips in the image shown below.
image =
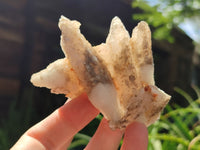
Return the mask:
[[159,119],[170,96],[155,86],[151,32],[140,22],[132,37],[114,17],[105,43],[92,46],[80,23],[61,16],[61,47],[65,58],[35,73],[31,82],[52,93],[74,98],[87,93],[112,129],[133,121],[146,126]]

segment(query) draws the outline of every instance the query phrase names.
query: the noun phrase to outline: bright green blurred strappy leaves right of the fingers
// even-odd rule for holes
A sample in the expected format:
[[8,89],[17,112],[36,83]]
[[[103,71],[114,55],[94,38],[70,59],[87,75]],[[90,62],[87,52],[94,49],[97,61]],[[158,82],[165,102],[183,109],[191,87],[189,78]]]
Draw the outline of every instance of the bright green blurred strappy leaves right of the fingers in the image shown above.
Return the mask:
[[148,150],[200,149],[200,89],[194,89],[197,94],[195,100],[185,91],[175,88],[189,106],[167,105],[160,120],[148,128]]

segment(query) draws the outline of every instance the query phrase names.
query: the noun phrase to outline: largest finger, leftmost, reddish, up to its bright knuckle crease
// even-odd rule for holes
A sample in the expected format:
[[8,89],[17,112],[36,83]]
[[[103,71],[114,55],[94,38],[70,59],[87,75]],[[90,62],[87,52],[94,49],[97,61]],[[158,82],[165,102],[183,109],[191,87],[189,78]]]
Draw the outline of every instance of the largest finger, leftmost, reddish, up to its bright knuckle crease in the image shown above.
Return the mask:
[[[70,141],[98,113],[99,111],[83,94],[69,101],[46,119],[33,126],[25,133],[25,137],[31,137],[39,141],[48,150],[56,150]],[[29,145],[30,143],[31,140],[24,144]],[[39,145],[35,144],[36,146]]]

